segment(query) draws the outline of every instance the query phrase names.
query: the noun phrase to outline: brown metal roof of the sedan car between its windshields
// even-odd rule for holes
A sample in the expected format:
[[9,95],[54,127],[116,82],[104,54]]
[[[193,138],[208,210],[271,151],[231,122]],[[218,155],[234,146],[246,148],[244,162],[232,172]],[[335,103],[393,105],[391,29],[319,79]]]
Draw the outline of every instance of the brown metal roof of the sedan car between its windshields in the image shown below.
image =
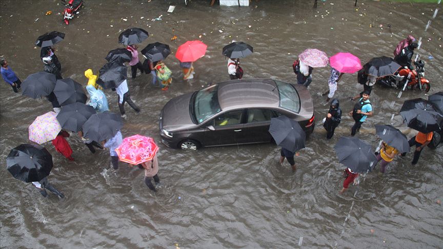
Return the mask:
[[280,97],[272,79],[237,79],[218,84],[223,111],[239,108],[278,108]]

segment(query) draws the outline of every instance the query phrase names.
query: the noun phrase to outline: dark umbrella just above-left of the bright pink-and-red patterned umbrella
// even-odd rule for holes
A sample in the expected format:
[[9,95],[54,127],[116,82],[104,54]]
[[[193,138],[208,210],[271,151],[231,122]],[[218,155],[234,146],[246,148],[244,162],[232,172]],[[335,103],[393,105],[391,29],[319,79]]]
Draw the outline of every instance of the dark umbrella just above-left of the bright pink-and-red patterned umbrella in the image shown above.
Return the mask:
[[120,129],[123,122],[120,115],[112,112],[102,112],[92,115],[83,124],[83,136],[96,142],[112,138]]

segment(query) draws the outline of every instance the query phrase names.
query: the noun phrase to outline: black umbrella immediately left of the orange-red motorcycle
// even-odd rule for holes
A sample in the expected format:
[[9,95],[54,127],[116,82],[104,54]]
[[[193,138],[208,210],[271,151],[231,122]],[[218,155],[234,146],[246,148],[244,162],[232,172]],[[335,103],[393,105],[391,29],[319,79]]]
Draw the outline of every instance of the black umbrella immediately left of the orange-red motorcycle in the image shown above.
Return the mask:
[[366,74],[377,78],[394,74],[400,67],[393,58],[386,56],[372,58],[363,66]]

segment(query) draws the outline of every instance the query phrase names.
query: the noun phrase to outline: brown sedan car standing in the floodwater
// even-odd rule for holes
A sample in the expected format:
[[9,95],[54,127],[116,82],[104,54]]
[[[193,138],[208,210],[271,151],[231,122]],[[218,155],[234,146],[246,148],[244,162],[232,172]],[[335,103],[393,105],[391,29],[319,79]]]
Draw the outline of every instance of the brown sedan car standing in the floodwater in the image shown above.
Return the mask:
[[273,79],[220,82],[169,100],[160,113],[162,142],[171,148],[271,142],[271,118],[286,115],[306,134],[314,105],[304,86]]

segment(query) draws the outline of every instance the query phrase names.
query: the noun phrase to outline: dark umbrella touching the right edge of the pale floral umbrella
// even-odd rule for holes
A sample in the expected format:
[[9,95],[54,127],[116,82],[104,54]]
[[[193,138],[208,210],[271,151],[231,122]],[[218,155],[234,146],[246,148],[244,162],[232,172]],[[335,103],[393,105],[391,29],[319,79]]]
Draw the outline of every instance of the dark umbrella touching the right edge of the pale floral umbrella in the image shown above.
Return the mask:
[[83,124],[93,114],[95,114],[93,107],[76,102],[63,106],[62,110],[57,114],[57,120],[62,129],[78,132],[82,130]]

